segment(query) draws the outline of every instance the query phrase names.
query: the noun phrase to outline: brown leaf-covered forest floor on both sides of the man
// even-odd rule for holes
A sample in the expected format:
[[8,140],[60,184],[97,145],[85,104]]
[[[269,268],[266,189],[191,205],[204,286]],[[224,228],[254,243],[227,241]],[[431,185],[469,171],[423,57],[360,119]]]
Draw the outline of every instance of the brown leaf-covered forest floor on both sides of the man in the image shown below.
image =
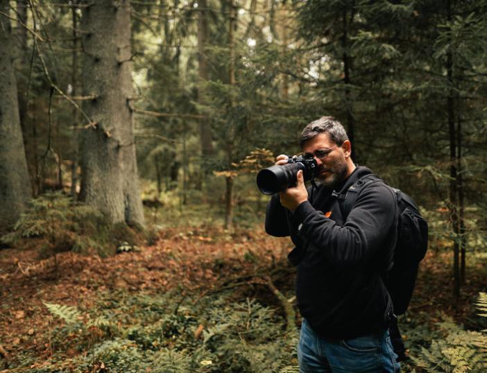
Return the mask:
[[[0,250],[0,363],[26,351],[40,360],[51,356],[48,331],[59,321],[44,302],[89,309],[105,291],[157,294],[179,289],[182,298],[198,299],[232,286],[262,297],[262,279],[267,275],[292,297],[295,271],[286,259],[290,248],[289,240],[267,236],[262,229],[229,234],[188,228],[164,229],[154,245],[105,259],[63,252],[40,260],[36,250]],[[408,311],[411,318],[424,313],[434,322],[441,311],[469,324],[487,277],[484,260],[468,264],[468,279],[459,302],[454,302],[452,256],[429,250]],[[273,297],[272,292],[267,294]],[[274,303],[278,308],[279,302]],[[0,373],[8,372],[1,369],[0,364]]]

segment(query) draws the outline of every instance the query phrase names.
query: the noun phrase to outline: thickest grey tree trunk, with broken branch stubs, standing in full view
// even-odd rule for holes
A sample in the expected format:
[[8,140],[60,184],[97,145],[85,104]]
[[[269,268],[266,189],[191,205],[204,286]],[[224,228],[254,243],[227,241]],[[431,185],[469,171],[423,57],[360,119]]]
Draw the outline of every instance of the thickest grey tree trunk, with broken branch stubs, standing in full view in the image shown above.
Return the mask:
[[133,135],[130,1],[83,1],[85,112],[96,123],[81,139],[85,202],[112,223],[144,225]]

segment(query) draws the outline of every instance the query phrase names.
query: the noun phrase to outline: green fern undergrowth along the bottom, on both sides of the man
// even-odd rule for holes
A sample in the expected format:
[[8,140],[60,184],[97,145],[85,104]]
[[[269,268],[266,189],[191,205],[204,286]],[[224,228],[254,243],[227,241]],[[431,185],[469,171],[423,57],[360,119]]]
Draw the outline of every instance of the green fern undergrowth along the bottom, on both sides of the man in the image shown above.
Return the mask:
[[[28,351],[8,372],[298,372],[298,330],[279,312],[234,291],[199,297],[182,289],[154,295],[100,293],[86,309],[44,303],[53,322],[44,333],[49,358]],[[487,317],[487,295],[477,308]],[[400,320],[411,359],[404,372],[486,372],[487,334],[438,313]]]

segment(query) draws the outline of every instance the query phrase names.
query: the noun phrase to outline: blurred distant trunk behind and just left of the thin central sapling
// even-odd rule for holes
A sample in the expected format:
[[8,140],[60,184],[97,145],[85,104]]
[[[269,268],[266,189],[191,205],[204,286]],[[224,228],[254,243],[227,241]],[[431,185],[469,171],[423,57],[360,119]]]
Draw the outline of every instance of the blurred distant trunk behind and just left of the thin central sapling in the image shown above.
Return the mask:
[[[205,50],[208,39],[208,6],[206,0],[198,1],[198,103],[205,105],[208,80],[208,56]],[[200,142],[203,156],[213,154],[212,131],[207,118],[200,119]]]

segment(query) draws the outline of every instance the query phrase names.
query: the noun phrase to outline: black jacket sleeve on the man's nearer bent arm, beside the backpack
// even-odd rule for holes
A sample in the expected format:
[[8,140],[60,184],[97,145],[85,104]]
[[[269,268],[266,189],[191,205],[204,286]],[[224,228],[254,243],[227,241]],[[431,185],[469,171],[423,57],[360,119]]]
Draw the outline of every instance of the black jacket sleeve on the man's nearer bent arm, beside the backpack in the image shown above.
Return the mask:
[[366,187],[357,196],[343,226],[302,202],[294,212],[302,223],[298,236],[323,250],[325,259],[340,267],[357,266],[384,247],[398,219],[398,206],[391,189],[385,184]]

